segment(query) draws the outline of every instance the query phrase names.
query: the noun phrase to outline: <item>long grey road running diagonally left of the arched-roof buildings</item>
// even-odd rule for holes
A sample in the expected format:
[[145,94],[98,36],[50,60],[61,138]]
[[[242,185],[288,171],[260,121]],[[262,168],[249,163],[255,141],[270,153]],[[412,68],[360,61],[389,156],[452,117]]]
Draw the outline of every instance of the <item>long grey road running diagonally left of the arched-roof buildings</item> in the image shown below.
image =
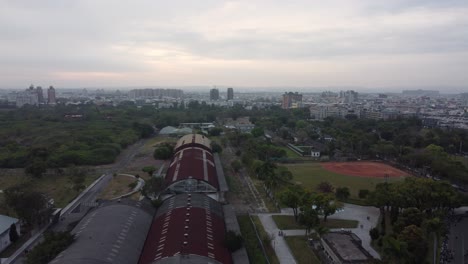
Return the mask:
[[8,260],[3,264],[21,264],[24,262],[24,252],[31,250],[43,239],[43,233],[46,230],[65,231],[69,229],[70,224],[76,223],[81,220],[86,212],[92,208],[96,202],[99,194],[112,180],[113,174],[125,168],[145,145],[148,139],[139,140],[137,143],[125,149],[117,158],[117,161],[110,165],[105,166],[104,174],[93,182],[88,188],[81,192],[72,202],[63,208],[60,221],[54,226],[48,224],[42,227],[33,237],[26,241]]

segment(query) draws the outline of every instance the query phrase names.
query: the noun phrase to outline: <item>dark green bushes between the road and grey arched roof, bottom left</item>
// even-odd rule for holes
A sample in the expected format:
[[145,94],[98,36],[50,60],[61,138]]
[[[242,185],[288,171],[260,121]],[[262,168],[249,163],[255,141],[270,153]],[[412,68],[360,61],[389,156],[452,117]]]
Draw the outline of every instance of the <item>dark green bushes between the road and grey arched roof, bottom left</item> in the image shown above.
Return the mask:
[[44,241],[26,255],[26,264],[47,264],[73,243],[70,232],[46,232]]

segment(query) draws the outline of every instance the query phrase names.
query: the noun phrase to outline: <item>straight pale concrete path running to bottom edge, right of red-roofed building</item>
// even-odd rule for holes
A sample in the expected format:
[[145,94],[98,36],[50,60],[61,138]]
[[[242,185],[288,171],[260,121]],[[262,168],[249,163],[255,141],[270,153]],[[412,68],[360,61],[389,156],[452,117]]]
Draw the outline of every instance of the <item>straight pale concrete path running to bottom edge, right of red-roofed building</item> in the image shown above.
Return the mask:
[[[294,264],[296,260],[289,250],[286,240],[282,236],[278,236],[278,227],[276,226],[271,214],[257,214],[260,222],[262,222],[265,232],[267,232],[271,237],[271,246],[275,250],[276,256],[280,263]],[[302,231],[302,234],[305,234],[305,231]]]

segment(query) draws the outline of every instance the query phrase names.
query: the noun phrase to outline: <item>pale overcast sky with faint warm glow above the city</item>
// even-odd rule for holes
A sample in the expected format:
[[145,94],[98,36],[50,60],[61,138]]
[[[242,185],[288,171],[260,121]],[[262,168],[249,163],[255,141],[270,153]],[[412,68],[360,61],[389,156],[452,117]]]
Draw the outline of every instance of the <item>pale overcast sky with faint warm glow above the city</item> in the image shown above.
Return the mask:
[[0,87],[468,92],[466,0],[0,0]]

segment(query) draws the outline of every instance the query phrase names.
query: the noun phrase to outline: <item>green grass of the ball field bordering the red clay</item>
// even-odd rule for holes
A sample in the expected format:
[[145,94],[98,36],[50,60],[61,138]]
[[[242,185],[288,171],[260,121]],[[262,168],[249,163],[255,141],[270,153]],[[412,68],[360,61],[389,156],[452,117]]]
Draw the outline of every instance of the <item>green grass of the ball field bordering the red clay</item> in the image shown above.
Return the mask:
[[[359,190],[374,190],[377,183],[385,182],[381,178],[366,178],[342,175],[325,170],[319,162],[285,164],[293,174],[293,182],[305,189],[315,190],[320,182],[330,182],[336,187],[348,187],[351,198],[358,198]],[[403,178],[389,178],[388,182],[400,181]]]

